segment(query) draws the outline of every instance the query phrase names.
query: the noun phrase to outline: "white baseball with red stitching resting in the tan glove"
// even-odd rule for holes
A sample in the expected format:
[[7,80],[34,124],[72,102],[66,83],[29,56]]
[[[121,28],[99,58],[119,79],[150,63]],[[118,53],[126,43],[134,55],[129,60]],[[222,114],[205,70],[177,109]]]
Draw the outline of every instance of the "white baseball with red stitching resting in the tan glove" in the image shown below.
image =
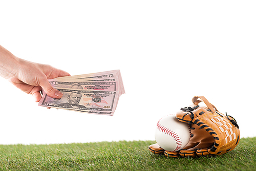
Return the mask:
[[160,147],[177,152],[189,142],[191,130],[188,123],[176,119],[176,115],[167,115],[157,122],[155,139]]

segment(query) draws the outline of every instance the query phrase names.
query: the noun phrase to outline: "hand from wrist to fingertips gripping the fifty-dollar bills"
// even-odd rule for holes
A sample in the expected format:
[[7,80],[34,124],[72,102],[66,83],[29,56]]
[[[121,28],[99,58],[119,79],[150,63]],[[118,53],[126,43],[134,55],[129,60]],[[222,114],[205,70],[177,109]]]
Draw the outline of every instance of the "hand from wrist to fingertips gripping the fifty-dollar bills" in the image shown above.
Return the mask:
[[40,101],[40,92],[42,90],[50,97],[62,97],[63,94],[54,89],[48,79],[70,75],[65,71],[53,68],[49,65],[34,63],[23,59],[19,59],[19,67],[14,73],[15,75],[8,78],[8,80],[18,89],[32,94],[36,102]]

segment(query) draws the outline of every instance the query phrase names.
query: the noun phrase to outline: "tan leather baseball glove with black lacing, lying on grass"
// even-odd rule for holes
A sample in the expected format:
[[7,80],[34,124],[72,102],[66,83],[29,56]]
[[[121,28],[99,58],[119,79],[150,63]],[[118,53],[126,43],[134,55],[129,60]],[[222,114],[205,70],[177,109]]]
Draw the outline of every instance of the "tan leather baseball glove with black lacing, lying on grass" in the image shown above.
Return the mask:
[[[207,107],[198,105],[202,101]],[[190,125],[188,144],[178,152],[165,151],[158,144],[152,144],[148,147],[151,152],[168,157],[210,156],[222,155],[238,145],[240,131],[234,118],[220,113],[204,96],[195,96],[192,102],[176,114],[179,121]]]

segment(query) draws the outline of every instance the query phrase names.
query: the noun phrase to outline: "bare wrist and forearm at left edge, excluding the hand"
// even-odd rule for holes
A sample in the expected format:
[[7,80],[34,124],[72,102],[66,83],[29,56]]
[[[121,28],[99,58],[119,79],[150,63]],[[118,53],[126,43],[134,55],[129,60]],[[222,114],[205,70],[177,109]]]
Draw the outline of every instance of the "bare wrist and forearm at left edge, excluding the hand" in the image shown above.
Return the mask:
[[16,75],[20,60],[0,45],[0,76],[8,79]]

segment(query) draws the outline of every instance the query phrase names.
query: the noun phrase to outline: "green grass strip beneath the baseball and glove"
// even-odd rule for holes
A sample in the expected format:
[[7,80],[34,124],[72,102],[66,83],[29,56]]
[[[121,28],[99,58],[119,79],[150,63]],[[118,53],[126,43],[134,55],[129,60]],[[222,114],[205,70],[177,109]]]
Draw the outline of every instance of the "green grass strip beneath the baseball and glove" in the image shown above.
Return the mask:
[[0,170],[256,170],[256,137],[242,138],[215,157],[168,158],[147,147],[155,141],[0,145]]

